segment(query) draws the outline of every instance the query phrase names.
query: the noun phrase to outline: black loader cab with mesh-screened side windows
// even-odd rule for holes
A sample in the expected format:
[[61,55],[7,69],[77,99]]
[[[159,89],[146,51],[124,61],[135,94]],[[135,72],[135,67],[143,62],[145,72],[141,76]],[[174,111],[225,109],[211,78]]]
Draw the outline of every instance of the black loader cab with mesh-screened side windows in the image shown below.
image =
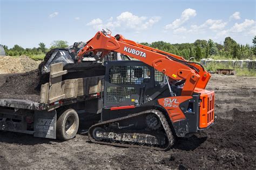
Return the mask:
[[104,65],[104,107],[139,106],[165,81],[163,73],[140,61],[109,61]]

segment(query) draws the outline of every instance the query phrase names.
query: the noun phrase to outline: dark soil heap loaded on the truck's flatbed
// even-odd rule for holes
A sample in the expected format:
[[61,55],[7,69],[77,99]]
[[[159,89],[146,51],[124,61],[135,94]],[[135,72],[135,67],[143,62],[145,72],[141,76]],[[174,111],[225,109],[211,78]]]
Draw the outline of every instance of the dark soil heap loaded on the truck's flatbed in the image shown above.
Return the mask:
[[40,74],[38,69],[17,74],[6,74],[0,87],[0,99],[40,100]]

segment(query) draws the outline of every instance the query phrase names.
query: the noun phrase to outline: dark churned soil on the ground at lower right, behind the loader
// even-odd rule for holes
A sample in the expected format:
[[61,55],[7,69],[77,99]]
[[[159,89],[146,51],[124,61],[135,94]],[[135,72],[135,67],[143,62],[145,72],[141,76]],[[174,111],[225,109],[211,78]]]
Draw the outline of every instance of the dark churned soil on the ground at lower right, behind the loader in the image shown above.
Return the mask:
[[159,164],[187,168],[235,168],[255,166],[255,111],[230,111],[233,120],[217,118],[208,130],[181,138]]

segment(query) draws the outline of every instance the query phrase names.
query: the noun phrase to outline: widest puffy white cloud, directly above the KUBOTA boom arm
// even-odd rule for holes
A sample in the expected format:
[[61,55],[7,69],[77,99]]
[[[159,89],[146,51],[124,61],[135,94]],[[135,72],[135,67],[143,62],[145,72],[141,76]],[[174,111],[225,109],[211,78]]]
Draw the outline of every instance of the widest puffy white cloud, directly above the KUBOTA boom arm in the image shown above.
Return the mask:
[[131,12],[122,12],[116,19],[113,17],[106,20],[104,23],[102,19],[93,19],[91,22],[86,25],[92,26],[95,30],[100,30],[102,28],[108,28],[110,30],[114,30],[116,28],[123,30],[135,30],[137,32],[141,30],[146,30],[156,24],[160,20],[160,17],[139,17],[133,15]]

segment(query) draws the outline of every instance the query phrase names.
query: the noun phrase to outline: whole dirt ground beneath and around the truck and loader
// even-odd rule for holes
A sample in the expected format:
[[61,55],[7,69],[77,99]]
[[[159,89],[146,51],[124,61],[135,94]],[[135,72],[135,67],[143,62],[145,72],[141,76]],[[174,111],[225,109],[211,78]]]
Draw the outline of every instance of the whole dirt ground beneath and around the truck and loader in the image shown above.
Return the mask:
[[[92,144],[80,115],[79,134],[69,141],[0,132],[0,169],[256,168],[256,78],[213,74],[215,123],[167,152]],[[95,120],[96,121],[96,120]]]

